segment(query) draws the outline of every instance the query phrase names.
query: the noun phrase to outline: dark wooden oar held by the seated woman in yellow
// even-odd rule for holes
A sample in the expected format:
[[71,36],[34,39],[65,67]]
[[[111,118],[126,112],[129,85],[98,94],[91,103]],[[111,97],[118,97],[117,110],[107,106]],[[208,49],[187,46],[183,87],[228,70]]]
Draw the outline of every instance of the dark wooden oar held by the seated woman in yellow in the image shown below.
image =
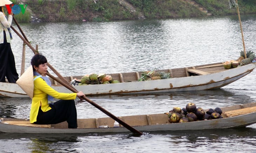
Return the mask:
[[[46,75],[48,75],[50,78],[54,79],[55,81],[57,81],[58,83],[60,83],[61,85],[65,86],[67,89],[69,89],[72,92],[78,93],[78,91],[76,89],[74,89],[73,87],[68,86],[67,84],[63,83],[60,79],[55,78],[54,76],[52,76],[51,74],[49,74],[48,72],[46,73]],[[116,117],[115,115],[111,114],[110,112],[108,112],[106,109],[102,108],[101,106],[97,105],[95,102],[93,102],[92,100],[90,100],[89,98],[82,96],[82,99],[86,100],[87,102],[89,102],[91,105],[93,105],[94,107],[98,108],[99,110],[101,110],[101,112],[105,113],[106,115],[108,115],[109,117],[113,118],[115,121],[117,121],[118,123],[120,123],[121,125],[123,125],[123,127],[127,128],[128,130],[130,130],[133,133],[136,134],[140,134],[142,135],[142,133],[138,130],[136,130],[135,128],[131,127],[129,124],[127,124],[126,122],[122,121],[120,118]]]

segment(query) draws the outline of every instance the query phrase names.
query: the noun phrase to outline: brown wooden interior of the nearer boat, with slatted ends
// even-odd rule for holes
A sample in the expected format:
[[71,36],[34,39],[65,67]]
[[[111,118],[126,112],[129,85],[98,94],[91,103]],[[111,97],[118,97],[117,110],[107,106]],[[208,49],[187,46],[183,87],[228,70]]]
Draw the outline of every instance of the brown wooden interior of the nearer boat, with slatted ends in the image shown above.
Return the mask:
[[[235,117],[238,115],[244,115],[248,113],[256,112],[256,102],[252,102],[244,105],[235,105],[223,107],[222,117]],[[206,112],[207,110],[205,110]],[[122,116],[119,117],[122,121],[126,122],[130,126],[143,126],[143,125],[159,125],[159,124],[171,124],[168,121],[168,115],[162,114],[147,114],[147,115],[134,115],[134,116]],[[78,119],[78,128],[100,128],[100,127],[113,127],[114,120],[110,117],[104,118],[85,118]],[[1,118],[1,123],[14,124],[29,127],[40,127],[40,128],[68,128],[67,122],[59,124],[31,124],[28,119],[17,119],[17,118]],[[119,124],[122,127],[121,124]]]

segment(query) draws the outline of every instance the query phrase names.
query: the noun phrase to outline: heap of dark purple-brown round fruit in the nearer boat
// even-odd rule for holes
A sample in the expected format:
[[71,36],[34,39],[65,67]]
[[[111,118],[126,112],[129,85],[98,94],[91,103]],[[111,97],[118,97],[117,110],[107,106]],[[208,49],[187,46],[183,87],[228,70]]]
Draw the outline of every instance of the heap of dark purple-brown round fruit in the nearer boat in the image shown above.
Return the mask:
[[196,104],[190,102],[184,108],[173,107],[167,114],[170,123],[184,123],[184,122],[194,122],[203,120],[213,120],[217,118],[222,118],[222,110],[219,107],[215,109],[208,109],[204,111],[201,107],[196,107]]

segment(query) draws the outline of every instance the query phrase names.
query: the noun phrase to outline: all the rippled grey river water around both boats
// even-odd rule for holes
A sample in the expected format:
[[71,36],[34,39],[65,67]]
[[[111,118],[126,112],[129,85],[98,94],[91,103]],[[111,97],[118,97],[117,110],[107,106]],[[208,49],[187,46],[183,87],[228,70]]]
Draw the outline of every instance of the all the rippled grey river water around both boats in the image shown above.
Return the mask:
[[[256,49],[256,15],[241,16],[246,49]],[[18,28],[13,25],[15,29]],[[196,66],[237,59],[243,50],[237,16],[20,24],[32,46],[62,74],[86,75]],[[22,40],[13,32],[20,72]],[[33,56],[26,47],[26,68]],[[51,71],[50,71],[51,72]],[[215,108],[255,102],[255,70],[218,90],[88,97],[115,116],[169,112],[194,102]],[[0,98],[0,116],[28,118],[31,100]],[[76,99],[78,118],[106,117]],[[89,134],[0,133],[1,152],[256,152],[256,125],[201,131]]]

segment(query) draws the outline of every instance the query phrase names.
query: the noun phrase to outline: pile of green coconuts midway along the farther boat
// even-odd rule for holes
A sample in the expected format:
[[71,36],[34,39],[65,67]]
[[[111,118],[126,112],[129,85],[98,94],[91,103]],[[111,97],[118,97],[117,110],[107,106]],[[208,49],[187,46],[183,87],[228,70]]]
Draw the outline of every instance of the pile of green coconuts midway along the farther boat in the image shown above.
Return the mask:
[[83,76],[80,80],[74,79],[70,82],[72,85],[90,85],[90,84],[109,84],[120,83],[118,80],[114,80],[112,76],[102,74],[90,74]]

